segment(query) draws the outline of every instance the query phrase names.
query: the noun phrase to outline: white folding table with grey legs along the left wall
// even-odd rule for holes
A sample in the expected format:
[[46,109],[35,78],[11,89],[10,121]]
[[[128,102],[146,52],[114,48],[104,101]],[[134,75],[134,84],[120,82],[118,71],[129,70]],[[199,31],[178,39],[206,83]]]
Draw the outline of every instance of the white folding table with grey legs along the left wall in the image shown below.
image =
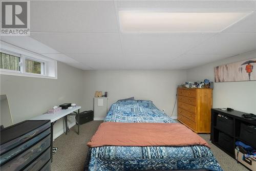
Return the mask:
[[[51,120],[51,149],[53,144],[53,124],[60,118],[65,117],[65,124],[66,124],[66,135],[68,134],[68,115],[78,115],[77,119],[77,134],[79,135],[79,110],[81,109],[81,106],[73,107],[72,109],[63,109],[55,114],[42,114],[39,116],[36,116],[34,118],[31,118],[29,120]],[[75,112],[77,111],[77,112]],[[52,151],[51,151],[51,159],[52,159]]]

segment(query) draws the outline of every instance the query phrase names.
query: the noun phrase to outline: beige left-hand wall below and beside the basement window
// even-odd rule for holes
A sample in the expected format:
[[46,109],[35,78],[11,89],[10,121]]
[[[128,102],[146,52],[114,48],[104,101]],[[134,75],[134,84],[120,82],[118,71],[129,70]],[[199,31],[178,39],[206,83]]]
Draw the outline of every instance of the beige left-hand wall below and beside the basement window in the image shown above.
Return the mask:
[[[46,113],[54,105],[77,103],[82,106],[83,71],[58,62],[58,79],[0,75],[1,94],[8,97],[14,123]],[[74,122],[74,118],[69,120]],[[63,131],[64,123],[57,121],[54,135]]]

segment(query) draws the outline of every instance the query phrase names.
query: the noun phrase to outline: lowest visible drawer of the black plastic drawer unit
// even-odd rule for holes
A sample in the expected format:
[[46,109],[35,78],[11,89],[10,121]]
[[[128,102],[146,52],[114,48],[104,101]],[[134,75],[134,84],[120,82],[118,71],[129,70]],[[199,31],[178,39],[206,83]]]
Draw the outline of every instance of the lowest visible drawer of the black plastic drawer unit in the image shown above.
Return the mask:
[[47,149],[47,151],[38,157],[33,163],[31,163],[28,167],[24,169],[24,171],[37,171],[40,170],[42,166],[44,166],[51,158],[51,147]]

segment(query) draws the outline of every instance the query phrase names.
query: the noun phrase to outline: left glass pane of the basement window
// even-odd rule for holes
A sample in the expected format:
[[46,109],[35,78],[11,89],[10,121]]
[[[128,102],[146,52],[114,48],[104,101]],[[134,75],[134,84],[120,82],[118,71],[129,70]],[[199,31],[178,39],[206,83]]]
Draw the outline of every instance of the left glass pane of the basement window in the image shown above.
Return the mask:
[[19,63],[19,57],[1,52],[0,54],[1,69],[19,71],[18,63]]

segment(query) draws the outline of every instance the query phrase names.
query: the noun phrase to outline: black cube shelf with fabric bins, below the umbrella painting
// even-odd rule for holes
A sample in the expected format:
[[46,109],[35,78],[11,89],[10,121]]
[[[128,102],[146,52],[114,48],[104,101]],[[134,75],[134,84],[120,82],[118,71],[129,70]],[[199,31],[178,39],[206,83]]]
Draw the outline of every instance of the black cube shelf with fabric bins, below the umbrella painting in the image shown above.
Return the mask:
[[211,142],[233,158],[236,141],[256,149],[255,120],[243,118],[244,112],[211,109]]

